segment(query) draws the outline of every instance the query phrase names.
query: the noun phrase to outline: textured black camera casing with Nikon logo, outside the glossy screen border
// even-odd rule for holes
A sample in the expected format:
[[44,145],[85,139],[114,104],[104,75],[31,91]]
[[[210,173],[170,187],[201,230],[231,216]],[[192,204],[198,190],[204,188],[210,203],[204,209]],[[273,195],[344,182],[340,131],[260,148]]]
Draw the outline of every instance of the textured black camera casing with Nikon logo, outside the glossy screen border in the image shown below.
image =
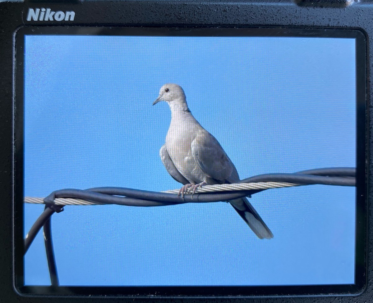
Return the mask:
[[[44,28],[53,27],[69,28],[75,26],[89,27],[92,32],[97,28],[259,28],[280,31],[296,30],[344,30],[360,31],[366,41],[366,83],[357,83],[357,89],[365,89],[367,104],[366,107],[358,105],[357,111],[365,114],[365,120],[357,121],[358,129],[365,129],[357,134],[358,141],[365,142],[366,147],[364,173],[358,177],[358,182],[365,184],[366,192],[361,193],[366,203],[358,211],[366,213],[363,225],[365,228],[359,230],[360,237],[364,243],[357,251],[357,255],[363,258],[357,260],[364,268],[366,283],[360,285],[358,293],[353,296],[339,296],[335,293],[327,294],[327,291],[320,291],[317,301],[333,302],[338,297],[341,302],[369,302],[372,297],[372,239],[373,235],[369,229],[372,224],[372,212],[370,211],[369,200],[372,196],[372,181],[370,171],[372,163],[369,161],[372,149],[370,129],[372,119],[370,113],[373,108],[372,92],[372,72],[373,65],[370,58],[373,50],[373,2],[372,1],[340,1],[340,0],[319,0],[319,1],[24,1],[24,2],[2,2],[0,3],[0,53],[1,56],[1,111],[0,111],[0,134],[3,141],[1,144],[1,155],[3,165],[0,174],[1,201],[3,208],[0,212],[0,236],[3,244],[0,247],[0,264],[3,274],[1,284],[3,285],[2,298],[4,302],[36,302],[43,300],[45,296],[38,297],[25,296],[17,293],[15,287],[15,254],[17,244],[22,240],[15,237],[14,217],[17,209],[14,208],[14,196],[17,189],[17,177],[13,174],[15,138],[18,138],[19,128],[14,124],[14,102],[15,102],[15,70],[17,48],[15,47],[15,37],[17,32],[23,29],[31,30],[37,28],[43,31]],[[84,35],[84,33],[82,33]],[[300,55],[301,56],[301,55]],[[313,81],[313,79],[309,79]],[[20,152],[19,150],[16,152]],[[17,155],[15,156],[17,157]],[[18,155],[21,157],[21,155]],[[359,160],[358,160],[359,161]],[[13,187],[14,185],[14,187]],[[362,251],[362,250],[364,251]],[[280,296],[260,296],[252,294],[252,300],[266,298],[268,302],[311,302],[315,297],[307,297],[307,293],[298,293],[296,296],[287,297],[281,291],[281,286],[277,286]],[[348,291],[347,291],[348,292]],[[289,292],[289,294],[294,294]],[[79,300],[89,302],[92,298],[87,296],[74,296],[73,291],[66,293],[69,300]],[[115,297],[104,298],[99,296],[99,300],[115,300]],[[315,294],[313,293],[312,296]],[[113,298],[114,297],[114,298]],[[131,296],[133,299],[136,296]],[[151,300],[157,296],[142,296],[145,300]],[[179,300],[180,298],[193,297],[204,301],[224,301],[229,297],[232,300],[242,300],[247,297],[242,295],[225,295],[220,297],[200,295],[182,296],[175,290],[168,296],[161,296],[166,299]],[[209,297],[209,298],[207,298]],[[59,301],[63,299],[54,298]]]

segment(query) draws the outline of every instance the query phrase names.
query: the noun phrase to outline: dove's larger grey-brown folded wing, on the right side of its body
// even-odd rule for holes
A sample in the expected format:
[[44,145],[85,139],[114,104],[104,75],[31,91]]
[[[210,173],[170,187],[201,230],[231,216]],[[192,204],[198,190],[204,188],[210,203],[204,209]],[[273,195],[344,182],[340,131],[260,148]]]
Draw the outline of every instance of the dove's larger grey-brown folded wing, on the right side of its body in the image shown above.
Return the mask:
[[231,176],[233,170],[236,171],[222,146],[206,130],[198,132],[191,149],[194,160],[207,177],[224,181]]

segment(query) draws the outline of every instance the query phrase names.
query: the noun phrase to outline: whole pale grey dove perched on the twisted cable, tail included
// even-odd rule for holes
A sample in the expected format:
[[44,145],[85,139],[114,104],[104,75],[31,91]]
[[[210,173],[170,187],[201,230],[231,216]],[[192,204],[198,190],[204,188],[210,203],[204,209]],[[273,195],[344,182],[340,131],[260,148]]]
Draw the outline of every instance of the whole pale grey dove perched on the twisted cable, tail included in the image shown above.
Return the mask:
[[[180,193],[206,184],[235,183],[239,176],[231,159],[219,142],[193,117],[186,104],[184,90],[177,84],[165,84],[159,101],[166,101],[171,110],[171,123],[160,157],[169,174],[184,184]],[[246,198],[229,200],[260,239],[270,239],[272,232]]]

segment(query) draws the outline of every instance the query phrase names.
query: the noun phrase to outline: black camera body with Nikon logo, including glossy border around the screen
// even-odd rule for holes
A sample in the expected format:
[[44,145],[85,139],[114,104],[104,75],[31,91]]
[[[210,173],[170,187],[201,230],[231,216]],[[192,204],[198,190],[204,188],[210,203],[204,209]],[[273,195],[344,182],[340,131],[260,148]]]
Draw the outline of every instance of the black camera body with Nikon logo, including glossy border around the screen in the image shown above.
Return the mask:
[[[373,195],[370,171],[372,163],[370,154],[373,149],[370,129],[372,127],[371,111],[373,49],[373,2],[369,0],[304,0],[304,1],[23,1],[0,3],[0,53],[1,53],[1,111],[0,134],[2,139],[1,156],[3,165],[0,174],[1,184],[1,228],[0,237],[3,239],[0,247],[1,265],[1,301],[4,302],[42,302],[53,300],[63,302],[77,300],[115,301],[119,297],[128,300],[141,298],[152,300],[182,300],[186,298],[201,301],[224,302],[225,300],[241,301],[249,298],[252,301],[267,302],[370,302],[373,295],[372,280],[372,247],[373,235],[370,226],[373,224],[372,211],[369,201]],[[337,291],[323,285],[308,285],[308,288],[297,288],[272,285],[270,291],[264,288],[248,291],[245,287],[219,288],[205,287],[196,290],[194,287],[149,287],[141,292],[123,291],[116,287],[84,288],[76,290],[64,287],[57,290],[53,286],[40,288],[34,292],[30,289],[22,291],[18,275],[22,273],[22,265],[18,260],[23,256],[23,228],[18,226],[16,219],[22,212],[22,205],[17,202],[17,192],[22,192],[22,176],[15,173],[15,168],[23,157],[22,143],[19,138],[23,134],[22,111],[16,107],[16,98],[23,94],[16,87],[17,77],[22,77],[19,52],[23,51],[16,45],[17,35],[39,33],[53,34],[54,31],[69,34],[70,31],[79,34],[79,30],[109,33],[111,30],[124,28],[128,31],[138,31],[144,34],[146,29],[170,29],[164,35],[176,35],[173,31],[188,31],[190,29],[217,29],[217,31],[232,31],[233,29],[248,29],[257,36],[278,35],[302,36],[312,35],[338,37],[342,32],[353,32],[360,47],[360,68],[363,82],[356,83],[357,92],[364,102],[357,103],[357,175],[356,182],[360,184],[358,193],[361,202],[357,205],[360,216],[357,222],[356,237],[359,239],[356,247],[356,271],[361,278],[355,281],[355,286],[339,285]],[[86,35],[87,31],[81,31]],[[308,31],[308,34],[307,34]],[[334,31],[334,32],[333,32]],[[325,32],[325,34],[323,34]],[[231,33],[231,32],[229,32]],[[218,33],[219,34],[219,33]],[[152,34],[152,35],[157,35]],[[211,36],[217,35],[215,32]],[[229,35],[229,34],[227,34]],[[347,34],[348,36],[348,34]],[[300,54],[300,56],[302,56]],[[358,66],[357,66],[358,67]],[[312,82],[310,78],[308,81]],[[16,118],[15,118],[16,117]],[[17,122],[18,120],[18,122]],[[20,145],[21,144],[21,145]],[[18,197],[19,198],[19,197]],[[17,204],[18,203],[18,204]],[[296,244],[295,244],[296,245]],[[206,290],[206,288],[208,288]],[[36,288],[35,288],[36,289]],[[335,288],[337,289],[337,288]],[[47,299],[48,298],[48,299]]]

